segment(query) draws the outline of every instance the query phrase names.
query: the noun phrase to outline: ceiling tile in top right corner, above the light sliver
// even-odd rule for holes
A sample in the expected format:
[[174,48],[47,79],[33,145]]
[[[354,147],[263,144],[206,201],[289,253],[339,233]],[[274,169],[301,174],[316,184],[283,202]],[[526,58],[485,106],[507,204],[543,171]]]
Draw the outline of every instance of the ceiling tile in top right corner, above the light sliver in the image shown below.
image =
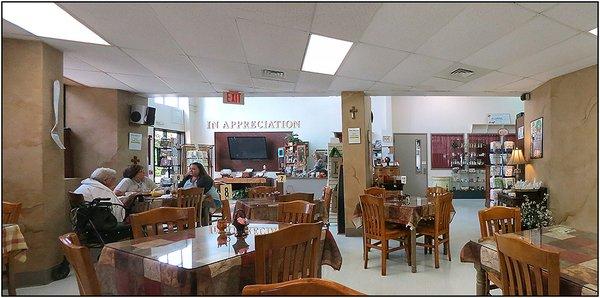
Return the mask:
[[582,31],[598,27],[598,2],[560,3],[543,14]]

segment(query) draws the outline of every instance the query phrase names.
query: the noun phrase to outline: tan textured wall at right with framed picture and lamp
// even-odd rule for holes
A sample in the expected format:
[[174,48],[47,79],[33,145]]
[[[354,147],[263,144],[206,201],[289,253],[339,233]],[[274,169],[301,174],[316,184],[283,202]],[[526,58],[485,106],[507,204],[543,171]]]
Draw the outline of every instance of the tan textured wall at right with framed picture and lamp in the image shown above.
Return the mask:
[[525,156],[530,122],[544,117],[543,157],[530,160],[526,178],[542,180],[557,223],[598,226],[598,66],[554,78],[525,102]]

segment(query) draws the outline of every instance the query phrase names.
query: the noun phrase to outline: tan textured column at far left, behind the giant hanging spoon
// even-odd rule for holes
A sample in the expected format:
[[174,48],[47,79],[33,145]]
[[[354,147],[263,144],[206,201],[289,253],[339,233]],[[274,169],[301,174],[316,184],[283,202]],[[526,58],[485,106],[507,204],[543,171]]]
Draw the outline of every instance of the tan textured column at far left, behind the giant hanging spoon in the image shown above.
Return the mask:
[[[70,230],[63,151],[50,137],[52,82],[62,80],[62,53],[42,42],[2,40],[2,200],[21,202],[29,246],[17,285],[44,284],[63,260],[58,236]],[[62,102],[59,105],[62,119]],[[62,128],[62,121],[58,127]]]

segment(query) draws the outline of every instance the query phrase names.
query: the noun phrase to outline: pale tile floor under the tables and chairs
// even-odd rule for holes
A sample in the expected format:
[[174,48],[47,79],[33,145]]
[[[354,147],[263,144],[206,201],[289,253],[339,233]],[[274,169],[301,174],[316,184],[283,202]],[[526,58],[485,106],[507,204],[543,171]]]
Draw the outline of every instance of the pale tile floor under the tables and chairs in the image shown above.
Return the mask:
[[[477,210],[483,208],[483,200],[454,200],[456,215],[452,221],[450,246],[452,262],[440,258],[440,268],[435,269],[433,255],[424,255],[417,248],[417,273],[411,273],[406,264],[404,251],[390,255],[387,276],[381,276],[381,254],[372,250],[369,268],[363,269],[362,238],[336,235],[332,232],[342,252],[340,271],[323,267],[323,278],[347,285],[368,295],[475,295],[475,270],[472,264],[460,262],[460,249],[469,239],[479,235]],[[394,241],[395,242],[395,241]],[[394,244],[395,245],[395,244]],[[498,290],[494,290],[493,294]],[[4,290],[3,295],[7,292]],[[69,277],[51,284],[17,289],[18,295],[78,295],[77,281],[73,272]]]

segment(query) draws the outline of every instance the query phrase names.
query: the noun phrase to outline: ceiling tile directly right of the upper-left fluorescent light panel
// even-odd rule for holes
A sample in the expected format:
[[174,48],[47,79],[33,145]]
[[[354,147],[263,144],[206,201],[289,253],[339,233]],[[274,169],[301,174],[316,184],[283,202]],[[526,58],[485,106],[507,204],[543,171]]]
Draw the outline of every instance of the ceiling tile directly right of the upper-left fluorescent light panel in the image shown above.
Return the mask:
[[[147,3],[58,3],[111,45],[178,53],[181,50]],[[124,30],[126,29],[126,30]]]

